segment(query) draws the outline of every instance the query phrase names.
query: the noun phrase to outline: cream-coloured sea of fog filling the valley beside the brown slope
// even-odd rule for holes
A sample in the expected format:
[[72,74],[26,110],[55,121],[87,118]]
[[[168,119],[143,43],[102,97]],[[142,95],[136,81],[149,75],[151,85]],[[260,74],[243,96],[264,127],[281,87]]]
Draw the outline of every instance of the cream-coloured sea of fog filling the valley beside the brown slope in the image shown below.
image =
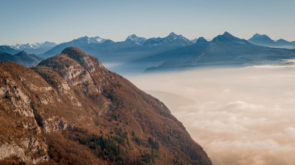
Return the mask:
[[293,66],[203,68],[128,79],[163,100],[213,164],[294,164]]

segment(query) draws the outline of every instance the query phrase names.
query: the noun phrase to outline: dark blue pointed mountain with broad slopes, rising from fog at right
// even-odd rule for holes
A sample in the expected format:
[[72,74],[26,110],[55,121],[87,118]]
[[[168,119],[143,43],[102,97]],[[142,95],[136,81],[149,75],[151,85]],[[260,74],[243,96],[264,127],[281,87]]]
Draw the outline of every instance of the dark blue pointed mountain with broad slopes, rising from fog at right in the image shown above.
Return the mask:
[[287,65],[290,63],[280,59],[294,58],[295,50],[254,45],[225,32],[210,42],[199,38],[194,45],[153,56],[156,57],[166,61],[145,72],[203,65]]

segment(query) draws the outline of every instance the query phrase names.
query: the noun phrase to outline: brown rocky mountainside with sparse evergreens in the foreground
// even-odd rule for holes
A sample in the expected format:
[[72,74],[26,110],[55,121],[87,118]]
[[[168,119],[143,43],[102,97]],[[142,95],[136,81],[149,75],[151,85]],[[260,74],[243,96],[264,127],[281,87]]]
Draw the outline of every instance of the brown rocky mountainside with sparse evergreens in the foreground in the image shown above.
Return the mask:
[[[0,159],[211,165],[169,109],[70,47],[25,68],[0,63]],[[0,163],[1,164],[1,163]]]

